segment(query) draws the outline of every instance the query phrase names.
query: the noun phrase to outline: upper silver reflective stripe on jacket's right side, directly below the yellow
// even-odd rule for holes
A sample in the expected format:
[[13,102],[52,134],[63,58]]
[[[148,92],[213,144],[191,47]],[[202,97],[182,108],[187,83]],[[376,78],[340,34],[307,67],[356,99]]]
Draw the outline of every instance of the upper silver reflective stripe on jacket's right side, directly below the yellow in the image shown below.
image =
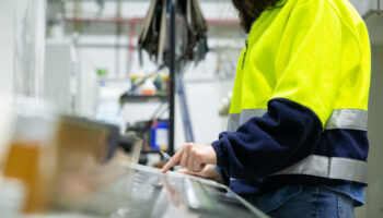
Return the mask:
[[367,110],[337,109],[328,118],[325,130],[351,129],[367,131]]

